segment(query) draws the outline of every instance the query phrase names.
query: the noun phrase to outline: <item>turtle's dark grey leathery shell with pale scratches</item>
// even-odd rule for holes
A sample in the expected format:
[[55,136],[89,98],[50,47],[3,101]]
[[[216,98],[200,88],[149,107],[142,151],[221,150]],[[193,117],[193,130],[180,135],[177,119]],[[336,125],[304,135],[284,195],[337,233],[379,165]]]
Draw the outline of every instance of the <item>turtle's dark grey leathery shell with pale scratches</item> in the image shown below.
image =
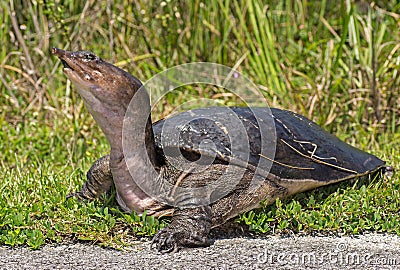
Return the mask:
[[319,186],[367,175],[385,164],[306,117],[274,108],[195,109],[160,120],[153,130],[159,156],[235,160],[241,166],[261,167],[261,174],[278,181],[305,182],[296,191],[307,189],[307,183]]

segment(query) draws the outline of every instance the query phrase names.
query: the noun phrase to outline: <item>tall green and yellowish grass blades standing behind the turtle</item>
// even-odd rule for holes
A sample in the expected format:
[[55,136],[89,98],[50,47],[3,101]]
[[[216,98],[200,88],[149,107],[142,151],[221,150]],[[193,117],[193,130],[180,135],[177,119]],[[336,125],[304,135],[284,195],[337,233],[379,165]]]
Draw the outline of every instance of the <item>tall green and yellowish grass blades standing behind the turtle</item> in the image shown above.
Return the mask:
[[191,61],[238,64],[272,105],[320,124],[399,125],[396,1],[57,2],[1,4],[2,104],[22,115],[75,98],[49,54],[58,46],[92,50],[141,80]]

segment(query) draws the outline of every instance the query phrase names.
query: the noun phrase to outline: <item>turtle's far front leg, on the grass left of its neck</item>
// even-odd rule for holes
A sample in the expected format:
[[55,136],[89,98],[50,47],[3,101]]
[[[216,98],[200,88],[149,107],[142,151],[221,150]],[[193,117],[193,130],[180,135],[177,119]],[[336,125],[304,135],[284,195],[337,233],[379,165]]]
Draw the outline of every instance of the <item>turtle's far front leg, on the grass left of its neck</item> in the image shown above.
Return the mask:
[[110,170],[110,155],[96,160],[86,174],[87,181],[82,189],[67,195],[67,199],[76,197],[78,200],[94,200],[102,193],[110,190],[113,178]]

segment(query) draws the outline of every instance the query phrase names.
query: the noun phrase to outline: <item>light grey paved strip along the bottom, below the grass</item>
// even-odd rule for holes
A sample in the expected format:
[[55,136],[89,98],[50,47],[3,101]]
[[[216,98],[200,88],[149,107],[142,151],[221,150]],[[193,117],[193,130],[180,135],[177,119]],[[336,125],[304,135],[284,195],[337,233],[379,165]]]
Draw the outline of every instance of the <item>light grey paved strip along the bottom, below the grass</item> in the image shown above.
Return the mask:
[[40,250],[0,247],[0,269],[400,269],[400,237],[268,236],[216,240],[208,248],[161,255],[140,242],[131,251],[85,244]]

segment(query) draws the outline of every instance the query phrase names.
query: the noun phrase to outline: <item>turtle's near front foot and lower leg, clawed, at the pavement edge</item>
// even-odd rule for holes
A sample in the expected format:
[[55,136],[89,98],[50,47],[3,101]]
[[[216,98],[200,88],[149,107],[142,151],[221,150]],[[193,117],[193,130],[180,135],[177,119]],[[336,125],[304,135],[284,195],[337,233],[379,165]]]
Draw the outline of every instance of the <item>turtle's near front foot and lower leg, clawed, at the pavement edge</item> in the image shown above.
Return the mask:
[[210,229],[210,206],[175,209],[171,223],[154,236],[151,246],[161,253],[176,252],[181,247],[207,247]]

